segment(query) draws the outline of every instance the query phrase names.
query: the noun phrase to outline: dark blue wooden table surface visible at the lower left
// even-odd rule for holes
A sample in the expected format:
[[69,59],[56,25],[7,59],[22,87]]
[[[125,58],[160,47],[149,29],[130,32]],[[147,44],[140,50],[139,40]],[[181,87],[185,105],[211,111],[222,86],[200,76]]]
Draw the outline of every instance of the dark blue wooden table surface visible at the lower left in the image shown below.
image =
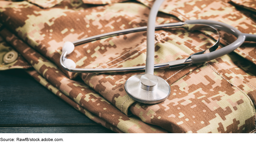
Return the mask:
[[114,133],[22,69],[0,71],[0,133]]

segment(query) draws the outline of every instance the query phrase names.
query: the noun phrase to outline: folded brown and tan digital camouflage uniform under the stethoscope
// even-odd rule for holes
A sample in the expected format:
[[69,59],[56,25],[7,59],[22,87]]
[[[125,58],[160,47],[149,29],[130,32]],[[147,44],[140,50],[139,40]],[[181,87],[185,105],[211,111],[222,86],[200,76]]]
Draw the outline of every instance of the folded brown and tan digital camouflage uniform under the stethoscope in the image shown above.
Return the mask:
[[[61,93],[63,100],[68,96],[72,99],[69,104],[94,114],[97,123],[115,132],[255,132],[256,44],[252,42],[206,63],[155,70],[154,74],[171,85],[171,95],[154,105],[135,102],[124,91],[125,81],[143,71],[75,74],[59,69],[64,42],[147,25],[148,7],[154,1],[138,1],[142,4],[98,6],[63,0],[48,9],[26,1],[0,1],[0,20],[6,26],[0,35],[35,68],[36,72],[29,73],[37,81],[47,81],[43,85],[49,90],[55,88],[52,91]],[[160,11],[163,13],[158,14],[156,24],[209,19],[243,33],[256,31],[248,12],[240,12],[224,0],[168,0]],[[219,48],[235,40],[228,33],[220,33]],[[155,36],[155,63],[187,58],[208,48],[216,38],[184,29],[159,30]],[[76,46],[67,58],[74,60],[77,68],[145,65],[146,40],[146,32],[105,38]],[[86,85],[69,79],[76,77]]]

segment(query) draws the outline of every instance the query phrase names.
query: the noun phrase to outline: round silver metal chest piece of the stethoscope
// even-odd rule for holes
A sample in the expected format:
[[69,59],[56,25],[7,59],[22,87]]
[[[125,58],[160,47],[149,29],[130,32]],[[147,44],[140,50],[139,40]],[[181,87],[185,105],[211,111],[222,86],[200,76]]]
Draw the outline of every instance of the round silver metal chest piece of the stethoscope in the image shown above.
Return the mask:
[[153,74],[137,74],[128,78],[124,89],[134,100],[155,104],[165,101],[171,92],[170,85]]

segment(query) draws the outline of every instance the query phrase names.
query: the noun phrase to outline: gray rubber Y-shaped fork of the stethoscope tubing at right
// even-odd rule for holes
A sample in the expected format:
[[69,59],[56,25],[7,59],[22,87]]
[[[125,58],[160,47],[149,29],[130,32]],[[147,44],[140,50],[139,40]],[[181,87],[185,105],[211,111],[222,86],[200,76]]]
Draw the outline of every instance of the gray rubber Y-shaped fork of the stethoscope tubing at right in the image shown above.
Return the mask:
[[[241,33],[239,30],[237,30],[235,27],[232,27],[228,24],[224,24],[222,22],[216,22],[212,20],[186,20],[186,24],[206,24],[210,25],[216,29],[221,29],[223,31],[226,31],[228,33],[233,34],[237,37],[236,41],[231,43],[230,45],[227,45],[226,47],[223,47],[219,50],[207,53],[207,54],[200,54],[200,55],[193,55],[191,56],[192,63],[204,63],[208,62],[210,60],[213,60],[215,58],[219,58],[221,56],[224,56],[225,54],[228,54],[235,49],[237,49],[240,45],[242,45],[243,42],[245,42],[245,39],[248,40],[254,40],[256,39],[256,36],[245,33]],[[248,36],[248,38],[246,38]]]

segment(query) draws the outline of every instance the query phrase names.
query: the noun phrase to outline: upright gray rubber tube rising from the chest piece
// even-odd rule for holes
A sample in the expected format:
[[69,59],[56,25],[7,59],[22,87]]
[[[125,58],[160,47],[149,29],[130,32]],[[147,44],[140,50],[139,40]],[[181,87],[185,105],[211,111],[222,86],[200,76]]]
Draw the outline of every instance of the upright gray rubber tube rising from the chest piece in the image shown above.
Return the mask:
[[154,75],[154,56],[155,56],[155,23],[158,9],[164,0],[156,0],[148,15],[147,27],[147,58],[146,58],[146,74]]

